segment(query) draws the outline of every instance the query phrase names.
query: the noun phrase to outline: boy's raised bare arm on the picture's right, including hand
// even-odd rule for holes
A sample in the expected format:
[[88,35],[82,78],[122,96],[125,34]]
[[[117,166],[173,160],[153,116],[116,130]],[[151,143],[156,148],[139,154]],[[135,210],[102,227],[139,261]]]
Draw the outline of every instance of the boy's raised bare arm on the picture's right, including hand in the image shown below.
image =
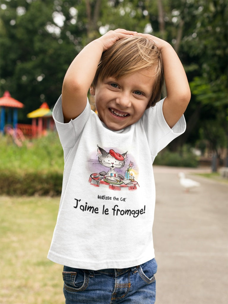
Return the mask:
[[172,128],[184,114],[191,92],[185,70],[171,45],[152,35],[139,34],[154,41],[161,52],[167,97],[163,103],[163,115]]

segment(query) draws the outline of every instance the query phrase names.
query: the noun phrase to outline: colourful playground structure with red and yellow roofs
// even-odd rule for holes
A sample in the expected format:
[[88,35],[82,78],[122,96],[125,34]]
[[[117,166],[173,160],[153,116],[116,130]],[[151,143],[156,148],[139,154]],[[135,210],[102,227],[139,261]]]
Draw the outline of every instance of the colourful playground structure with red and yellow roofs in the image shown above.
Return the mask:
[[9,91],[5,91],[0,98],[0,132],[12,137],[17,146],[28,138],[41,137],[47,134],[47,130],[54,130],[52,111],[47,102],[43,102],[39,109],[27,114],[32,118],[32,124],[18,123],[18,109],[23,108],[22,102],[11,97]]

